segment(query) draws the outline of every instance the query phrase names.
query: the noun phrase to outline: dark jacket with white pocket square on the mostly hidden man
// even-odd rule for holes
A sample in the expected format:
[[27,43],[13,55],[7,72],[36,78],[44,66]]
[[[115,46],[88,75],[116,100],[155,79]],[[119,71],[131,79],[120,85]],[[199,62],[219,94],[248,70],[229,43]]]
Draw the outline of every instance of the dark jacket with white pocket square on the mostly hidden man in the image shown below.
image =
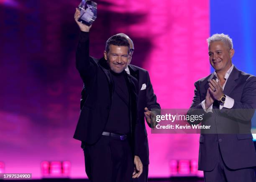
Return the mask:
[[[129,65],[130,74],[138,80],[138,120],[139,125],[136,128],[141,132],[136,132],[138,141],[138,156],[140,156],[141,162],[143,165],[149,164],[149,152],[148,152],[148,137],[147,130],[145,126],[144,119],[144,108],[148,107],[151,109],[159,109],[160,114],[160,105],[156,102],[156,95],[154,94],[154,90],[150,81],[150,77],[148,75],[148,71],[144,70],[140,67]],[[146,89],[141,90],[143,84],[146,84]],[[141,128],[139,128],[141,127]]]

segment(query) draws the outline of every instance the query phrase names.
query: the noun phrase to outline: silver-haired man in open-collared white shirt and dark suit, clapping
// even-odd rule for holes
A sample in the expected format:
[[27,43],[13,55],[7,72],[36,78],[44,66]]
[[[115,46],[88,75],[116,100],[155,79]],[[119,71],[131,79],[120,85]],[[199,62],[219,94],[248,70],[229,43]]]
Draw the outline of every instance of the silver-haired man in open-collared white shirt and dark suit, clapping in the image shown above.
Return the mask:
[[256,77],[232,64],[234,49],[228,35],[215,34],[207,41],[215,72],[195,82],[188,112],[204,114],[202,124],[214,128],[212,134],[201,131],[198,169],[204,171],[205,182],[255,182],[251,118]]

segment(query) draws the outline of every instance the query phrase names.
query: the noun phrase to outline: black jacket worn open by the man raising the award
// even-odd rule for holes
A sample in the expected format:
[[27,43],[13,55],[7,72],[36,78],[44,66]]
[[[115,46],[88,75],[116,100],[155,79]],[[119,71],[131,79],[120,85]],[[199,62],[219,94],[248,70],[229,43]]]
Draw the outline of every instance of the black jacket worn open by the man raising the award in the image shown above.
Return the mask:
[[[74,138],[94,144],[102,136],[111,106],[113,81],[107,62],[89,56],[89,33],[80,32],[76,52],[76,68],[84,82],[84,102]],[[125,74],[130,92],[131,133],[134,136],[137,122],[137,80]],[[135,151],[134,151],[135,152]],[[136,153],[136,152],[135,152]]]

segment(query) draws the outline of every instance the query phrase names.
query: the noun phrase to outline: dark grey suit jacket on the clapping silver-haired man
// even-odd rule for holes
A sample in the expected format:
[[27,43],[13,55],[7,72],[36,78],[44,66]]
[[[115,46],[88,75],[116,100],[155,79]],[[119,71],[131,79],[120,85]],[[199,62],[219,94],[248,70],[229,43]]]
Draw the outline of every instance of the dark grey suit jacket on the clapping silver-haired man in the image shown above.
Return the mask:
[[[241,169],[256,166],[256,152],[253,146],[250,131],[243,133],[243,125],[251,126],[251,118],[256,108],[256,77],[233,68],[225,88],[225,95],[235,100],[233,108],[216,109],[213,113],[205,113],[202,110],[201,102],[205,100],[206,92],[209,87],[208,80],[214,74],[202,78],[195,82],[195,96],[188,114],[200,115],[204,113],[203,122],[209,122],[218,131],[217,134],[200,135],[199,148],[199,170],[210,171],[214,169],[218,162],[218,145],[225,162],[230,169]],[[190,124],[197,124],[192,123]],[[237,134],[220,134],[223,128],[233,127]],[[225,133],[225,130],[222,132]]]

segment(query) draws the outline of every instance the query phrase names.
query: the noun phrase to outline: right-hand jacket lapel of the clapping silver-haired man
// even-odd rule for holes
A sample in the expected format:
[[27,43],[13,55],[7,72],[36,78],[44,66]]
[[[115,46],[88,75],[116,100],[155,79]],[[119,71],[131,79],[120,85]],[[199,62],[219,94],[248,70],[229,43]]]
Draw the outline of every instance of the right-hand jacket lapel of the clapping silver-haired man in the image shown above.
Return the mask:
[[236,87],[237,85],[236,80],[238,79],[238,77],[239,77],[239,70],[234,66],[223,90],[223,93],[225,95],[229,95],[230,92]]

